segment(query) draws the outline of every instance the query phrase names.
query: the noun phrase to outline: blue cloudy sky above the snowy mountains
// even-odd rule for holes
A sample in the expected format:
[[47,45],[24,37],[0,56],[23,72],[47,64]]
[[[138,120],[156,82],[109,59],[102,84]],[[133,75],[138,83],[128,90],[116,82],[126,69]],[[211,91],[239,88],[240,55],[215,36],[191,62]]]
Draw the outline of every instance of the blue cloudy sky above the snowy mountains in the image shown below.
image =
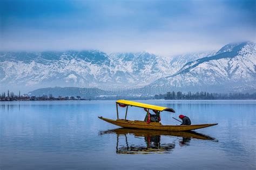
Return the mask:
[[208,51],[255,42],[255,2],[1,0],[0,49]]

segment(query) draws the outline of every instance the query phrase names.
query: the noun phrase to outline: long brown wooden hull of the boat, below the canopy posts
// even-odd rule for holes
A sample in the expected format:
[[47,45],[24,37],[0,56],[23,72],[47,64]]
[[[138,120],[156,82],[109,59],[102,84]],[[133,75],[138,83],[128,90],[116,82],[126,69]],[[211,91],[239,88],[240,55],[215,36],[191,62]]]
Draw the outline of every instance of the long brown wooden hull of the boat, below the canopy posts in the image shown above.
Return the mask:
[[98,117],[98,118],[123,128],[166,130],[166,131],[188,131],[188,130],[207,128],[207,127],[218,124],[218,123],[214,123],[214,124],[198,124],[198,125],[162,125],[161,123],[158,123],[158,122],[151,122],[147,124],[144,121],[129,121],[125,119],[113,120],[113,119],[107,119],[104,117]]

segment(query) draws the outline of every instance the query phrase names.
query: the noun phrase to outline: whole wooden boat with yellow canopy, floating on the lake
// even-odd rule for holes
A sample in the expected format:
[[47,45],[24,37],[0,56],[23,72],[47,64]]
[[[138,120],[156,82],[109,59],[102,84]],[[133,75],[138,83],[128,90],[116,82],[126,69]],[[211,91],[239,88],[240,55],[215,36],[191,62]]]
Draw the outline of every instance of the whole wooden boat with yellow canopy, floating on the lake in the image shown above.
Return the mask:
[[[119,119],[118,114],[118,106],[122,108],[126,108],[125,112],[125,118]],[[160,122],[149,122],[149,121],[130,121],[127,120],[127,111],[128,107],[138,107],[138,108],[144,108],[146,113],[146,117],[150,115],[149,109],[158,111],[159,117],[160,112],[162,111],[168,111],[168,112],[175,112],[172,108],[166,108],[166,107],[160,107],[157,105],[151,105],[151,104],[145,104],[140,102],[134,102],[134,101],[127,101],[127,100],[118,100],[116,101],[116,109],[117,109],[117,119],[109,119],[104,118],[102,116],[98,117],[102,119],[105,122],[120,126],[122,128],[131,128],[131,129],[146,129],[146,130],[165,130],[165,131],[190,131],[190,130],[196,130],[201,128],[207,128],[210,126],[217,125],[218,123],[213,124],[195,124],[195,125],[162,125]]]

